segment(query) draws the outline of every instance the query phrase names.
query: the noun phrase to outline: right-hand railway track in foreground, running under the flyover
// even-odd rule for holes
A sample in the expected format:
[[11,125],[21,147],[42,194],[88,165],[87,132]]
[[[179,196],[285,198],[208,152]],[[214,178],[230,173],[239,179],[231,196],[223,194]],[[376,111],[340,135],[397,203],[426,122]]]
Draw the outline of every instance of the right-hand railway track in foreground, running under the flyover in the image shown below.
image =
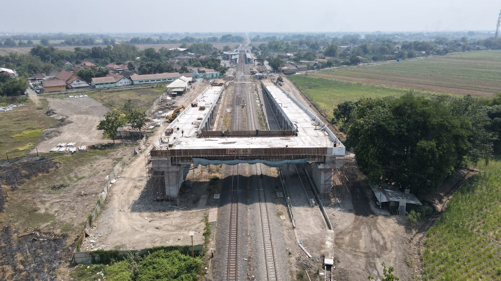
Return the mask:
[[272,232],[268,205],[266,203],[266,190],[263,183],[261,163],[256,164],[256,178],[258,181],[259,210],[261,214],[261,228],[263,230],[263,246],[265,249],[265,264],[268,280],[278,280],[277,265],[275,263],[275,251],[273,249]]

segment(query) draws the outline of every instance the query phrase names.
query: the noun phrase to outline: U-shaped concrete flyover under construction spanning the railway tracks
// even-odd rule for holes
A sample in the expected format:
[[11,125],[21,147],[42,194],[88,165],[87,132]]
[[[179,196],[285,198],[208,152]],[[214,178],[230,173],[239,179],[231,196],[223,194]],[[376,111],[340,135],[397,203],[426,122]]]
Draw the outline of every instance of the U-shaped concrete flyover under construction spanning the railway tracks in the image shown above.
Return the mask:
[[[280,130],[209,130],[225,86],[208,86],[168,126],[146,155],[149,176],[161,178],[165,196],[176,199],[183,167],[194,163],[263,163],[268,166],[311,162],[313,180],[323,193],[330,188],[334,169],[343,166],[345,146],[303,104],[280,85],[261,82]],[[163,187],[163,184],[162,184]]]

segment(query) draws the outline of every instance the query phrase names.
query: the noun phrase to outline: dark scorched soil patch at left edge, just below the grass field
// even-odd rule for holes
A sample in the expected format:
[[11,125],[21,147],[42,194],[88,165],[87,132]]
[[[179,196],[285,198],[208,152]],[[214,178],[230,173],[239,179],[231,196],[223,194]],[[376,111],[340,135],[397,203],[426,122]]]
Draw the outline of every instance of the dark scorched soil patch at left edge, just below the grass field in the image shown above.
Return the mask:
[[32,177],[48,173],[53,168],[58,168],[58,165],[50,157],[26,156],[16,162],[0,162],[0,183],[14,190]]

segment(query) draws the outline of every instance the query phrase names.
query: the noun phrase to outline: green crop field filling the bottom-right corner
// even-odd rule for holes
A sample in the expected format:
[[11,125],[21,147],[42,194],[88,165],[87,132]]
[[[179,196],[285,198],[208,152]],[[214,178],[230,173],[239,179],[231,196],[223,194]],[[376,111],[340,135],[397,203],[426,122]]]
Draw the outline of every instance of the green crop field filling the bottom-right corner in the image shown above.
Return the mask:
[[425,279],[501,279],[501,158],[471,176],[427,232]]

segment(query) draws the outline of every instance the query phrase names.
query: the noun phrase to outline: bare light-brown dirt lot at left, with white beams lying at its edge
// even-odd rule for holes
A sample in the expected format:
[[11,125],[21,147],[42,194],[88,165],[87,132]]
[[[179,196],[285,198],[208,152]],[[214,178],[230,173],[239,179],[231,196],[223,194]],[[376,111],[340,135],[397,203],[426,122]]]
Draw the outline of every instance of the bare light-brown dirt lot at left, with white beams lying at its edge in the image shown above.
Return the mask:
[[[91,145],[110,142],[111,139],[103,138],[103,132],[96,126],[108,111],[103,104],[92,97],[83,98],[47,98],[48,114],[65,118],[64,124],[57,129],[52,129],[49,136],[37,145],[39,152],[49,152],[60,142],[76,142],[76,146]],[[59,115],[62,116],[59,116]]]

